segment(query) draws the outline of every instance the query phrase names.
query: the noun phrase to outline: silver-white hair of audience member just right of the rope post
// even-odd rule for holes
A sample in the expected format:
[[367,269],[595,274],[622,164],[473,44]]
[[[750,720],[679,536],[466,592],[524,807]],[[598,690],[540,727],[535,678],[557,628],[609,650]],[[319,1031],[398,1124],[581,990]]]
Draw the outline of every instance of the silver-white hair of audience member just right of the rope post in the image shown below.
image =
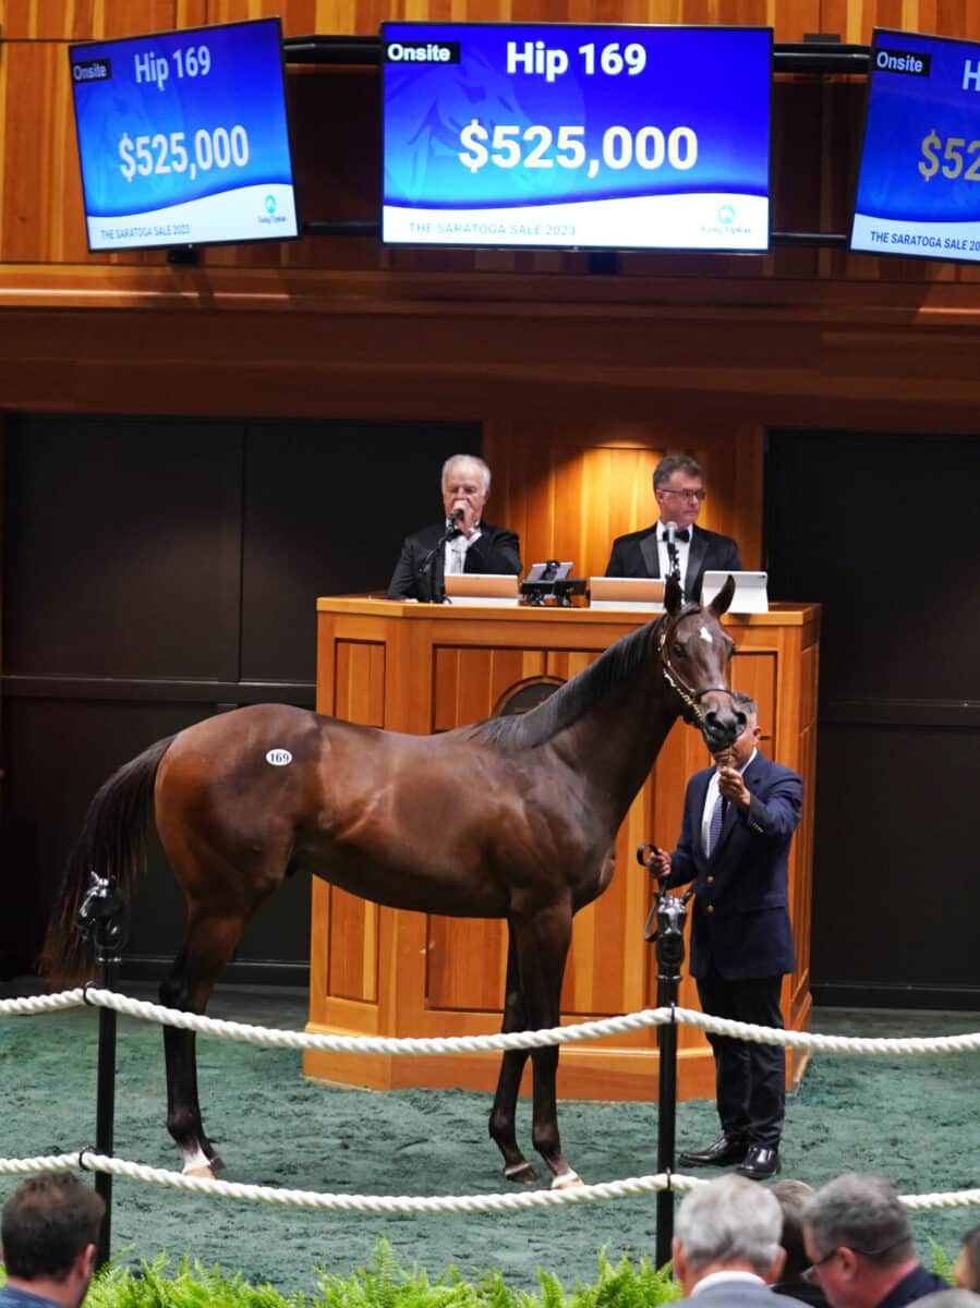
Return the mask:
[[782,1209],[765,1186],[733,1173],[686,1194],[675,1230],[692,1271],[747,1262],[761,1275],[780,1253]]

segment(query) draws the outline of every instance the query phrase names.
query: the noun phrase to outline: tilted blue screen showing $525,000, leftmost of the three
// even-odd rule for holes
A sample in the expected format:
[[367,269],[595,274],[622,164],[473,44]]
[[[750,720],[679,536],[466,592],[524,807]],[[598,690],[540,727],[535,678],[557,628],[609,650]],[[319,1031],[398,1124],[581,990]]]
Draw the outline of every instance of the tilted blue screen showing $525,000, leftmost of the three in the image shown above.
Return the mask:
[[298,234],[277,18],[68,56],[89,250]]

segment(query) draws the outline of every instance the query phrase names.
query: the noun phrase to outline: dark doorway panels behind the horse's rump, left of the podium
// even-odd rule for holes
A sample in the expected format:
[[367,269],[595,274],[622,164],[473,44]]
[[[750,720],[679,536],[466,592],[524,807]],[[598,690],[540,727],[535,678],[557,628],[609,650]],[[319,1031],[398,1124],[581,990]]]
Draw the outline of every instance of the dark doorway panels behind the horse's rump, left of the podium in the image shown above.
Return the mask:
[[[313,708],[318,595],[383,590],[441,513],[475,424],[8,420],[0,976],[30,969],[85,806],[122,763],[212,713]],[[309,886],[250,926],[237,980],[305,981]],[[126,968],[156,974],[183,905],[157,852]]]

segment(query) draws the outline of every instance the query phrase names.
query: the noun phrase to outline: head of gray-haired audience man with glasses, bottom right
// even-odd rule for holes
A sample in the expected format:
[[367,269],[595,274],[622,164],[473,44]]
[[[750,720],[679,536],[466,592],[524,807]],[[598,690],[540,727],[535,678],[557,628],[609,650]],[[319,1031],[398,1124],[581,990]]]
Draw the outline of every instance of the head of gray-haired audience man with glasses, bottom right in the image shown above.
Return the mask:
[[833,1308],[873,1308],[916,1265],[901,1199],[883,1176],[848,1172],[803,1209],[814,1278]]

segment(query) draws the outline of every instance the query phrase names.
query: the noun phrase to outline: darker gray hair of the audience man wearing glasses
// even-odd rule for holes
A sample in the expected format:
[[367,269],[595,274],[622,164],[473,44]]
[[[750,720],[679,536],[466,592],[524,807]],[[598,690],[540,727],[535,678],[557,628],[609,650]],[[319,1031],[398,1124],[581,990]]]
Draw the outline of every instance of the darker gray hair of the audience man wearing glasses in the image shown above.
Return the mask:
[[828,1181],[803,1209],[803,1224],[820,1256],[844,1245],[890,1267],[915,1252],[908,1214],[883,1176],[845,1172]]

